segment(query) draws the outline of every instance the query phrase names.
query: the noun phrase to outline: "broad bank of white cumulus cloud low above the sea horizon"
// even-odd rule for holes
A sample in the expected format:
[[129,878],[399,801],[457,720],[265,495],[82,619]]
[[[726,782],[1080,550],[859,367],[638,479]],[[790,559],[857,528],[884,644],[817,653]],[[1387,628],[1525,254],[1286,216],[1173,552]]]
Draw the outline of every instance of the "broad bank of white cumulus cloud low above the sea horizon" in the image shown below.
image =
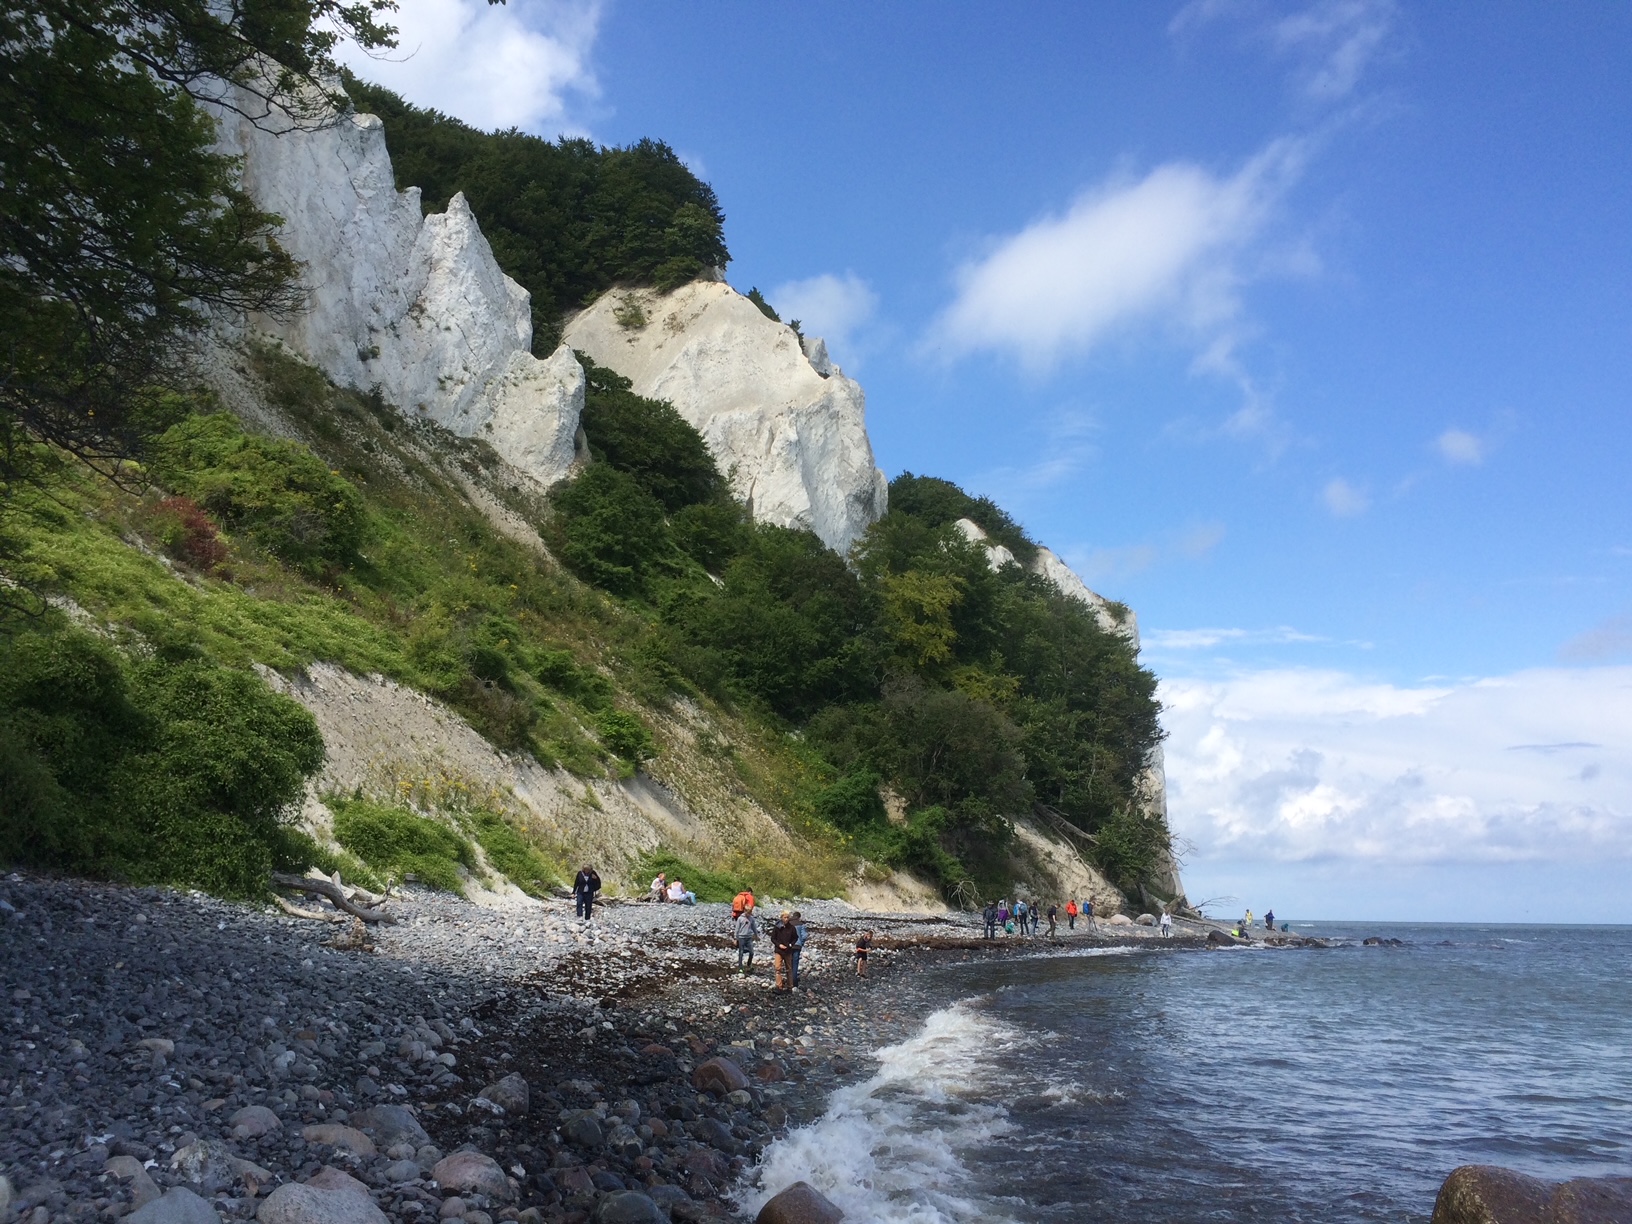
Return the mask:
[[1160,697],[1172,823],[1198,858],[1632,857],[1632,667],[1417,687],[1270,669]]

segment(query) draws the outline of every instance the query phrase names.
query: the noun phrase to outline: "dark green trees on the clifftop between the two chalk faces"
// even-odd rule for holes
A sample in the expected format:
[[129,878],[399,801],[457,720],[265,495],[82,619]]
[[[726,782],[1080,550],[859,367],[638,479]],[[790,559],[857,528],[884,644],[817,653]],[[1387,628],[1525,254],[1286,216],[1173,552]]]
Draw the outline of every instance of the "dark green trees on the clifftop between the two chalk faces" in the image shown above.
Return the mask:
[[493,256],[532,294],[535,353],[560,343],[565,312],[615,284],[669,290],[731,259],[713,188],[661,140],[481,132],[354,77],[346,90],[385,121],[398,188],[418,186],[428,212],[465,193]]

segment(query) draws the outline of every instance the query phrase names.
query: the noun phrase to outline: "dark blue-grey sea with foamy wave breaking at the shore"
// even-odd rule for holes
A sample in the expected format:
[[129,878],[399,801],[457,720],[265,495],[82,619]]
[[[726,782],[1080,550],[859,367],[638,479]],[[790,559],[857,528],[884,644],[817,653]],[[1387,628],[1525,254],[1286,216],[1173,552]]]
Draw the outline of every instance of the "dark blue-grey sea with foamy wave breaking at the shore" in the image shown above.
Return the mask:
[[930,971],[947,1004],[743,1206],[805,1180],[857,1224],[1428,1221],[1464,1164],[1632,1175],[1632,927],[1293,930],[1333,947]]

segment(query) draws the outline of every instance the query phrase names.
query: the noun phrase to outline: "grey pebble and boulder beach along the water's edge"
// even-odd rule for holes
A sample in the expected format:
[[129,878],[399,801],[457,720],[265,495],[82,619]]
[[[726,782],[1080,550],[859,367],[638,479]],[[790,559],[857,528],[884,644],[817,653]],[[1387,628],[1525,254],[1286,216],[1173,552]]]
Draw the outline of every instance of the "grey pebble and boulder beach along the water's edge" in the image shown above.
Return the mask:
[[945,1002],[917,966],[1048,943],[801,902],[805,989],[778,994],[764,940],[736,974],[725,906],[388,907],[367,951],[196,893],[0,880],[0,1221],[731,1216],[759,1152]]

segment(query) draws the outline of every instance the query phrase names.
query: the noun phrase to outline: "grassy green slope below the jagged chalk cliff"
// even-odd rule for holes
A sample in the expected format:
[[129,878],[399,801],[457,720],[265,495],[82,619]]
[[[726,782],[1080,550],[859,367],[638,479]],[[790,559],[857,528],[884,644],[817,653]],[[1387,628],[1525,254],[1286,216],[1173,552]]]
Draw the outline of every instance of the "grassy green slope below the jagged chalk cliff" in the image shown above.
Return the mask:
[[[72,599],[131,646],[188,643],[233,667],[331,661],[380,672],[447,700],[494,743],[581,777],[632,770],[599,728],[609,712],[633,715],[656,736],[646,769],[682,798],[734,793],[785,819],[805,847],[787,862],[744,852],[710,870],[752,873],[772,891],[842,889],[844,839],[811,809],[831,772],[780,730],[697,694],[708,731],[700,743],[666,741],[674,677],[650,651],[646,622],[472,504],[465,483],[512,521],[542,512],[526,490],[494,478],[501,468],[485,447],[338,392],[273,348],[246,354],[245,369],[274,419],[361,491],[367,526],[353,565],[305,576],[240,532],[224,535],[225,561],[199,573],[163,552],[155,503],[168,490],[65,468],[49,494],[24,494],[18,578]],[[480,819],[463,813],[460,823],[486,845],[493,829],[481,837]],[[514,862],[517,849],[504,849]],[[496,865],[504,857],[488,847]],[[517,883],[532,886],[535,860],[522,875],[530,878]]]

